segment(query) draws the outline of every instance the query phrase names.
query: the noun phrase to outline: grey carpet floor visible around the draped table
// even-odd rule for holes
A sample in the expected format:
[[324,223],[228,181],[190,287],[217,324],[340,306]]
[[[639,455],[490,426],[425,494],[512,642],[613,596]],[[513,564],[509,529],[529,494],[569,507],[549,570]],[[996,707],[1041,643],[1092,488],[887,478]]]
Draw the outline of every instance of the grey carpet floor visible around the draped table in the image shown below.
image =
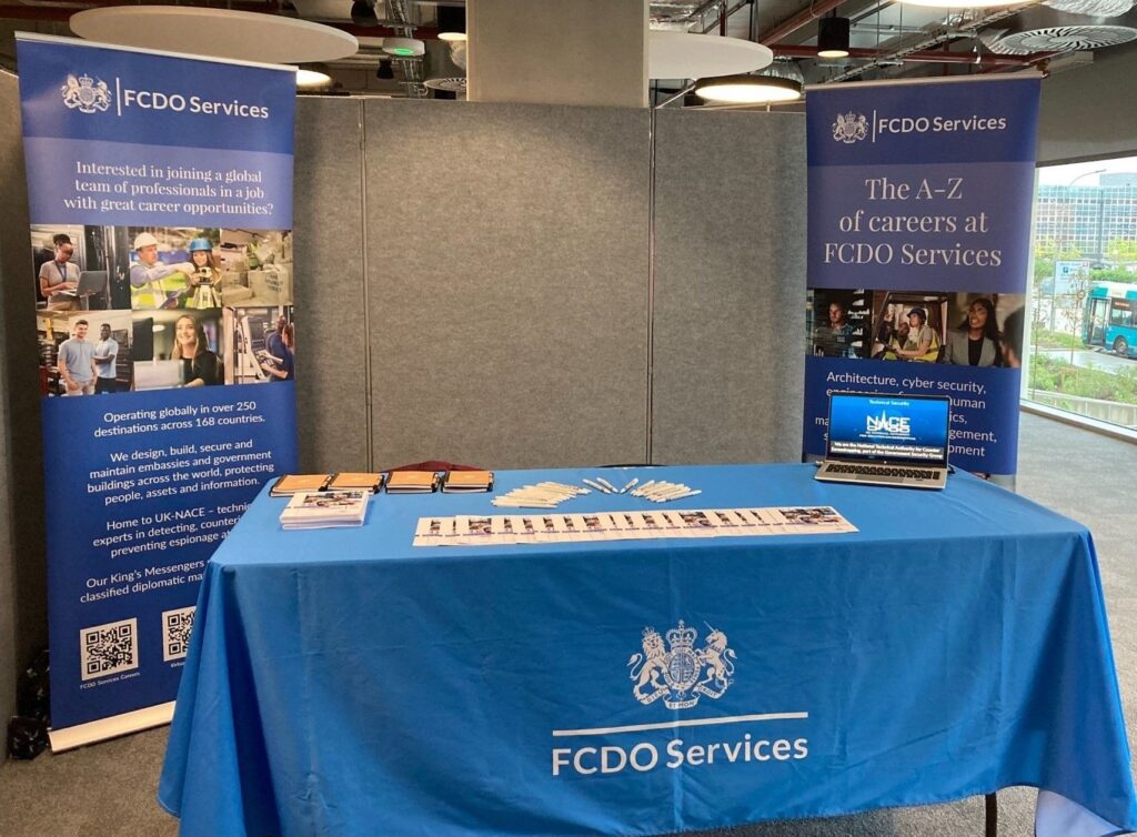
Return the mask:
[[[1023,414],[1019,491],[1088,525],[1097,544],[1126,723],[1137,729],[1137,561],[1134,473],[1137,446]],[[80,837],[174,835],[155,802],[166,730],[44,754],[0,766],[0,835]],[[1137,764],[1135,764],[1137,770]],[[999,835],[1030,837],[1035,792],[999,793]],[[954,837],[982,835],[979,797],[951,805],[875,811],[705,831],[697,837]]]

